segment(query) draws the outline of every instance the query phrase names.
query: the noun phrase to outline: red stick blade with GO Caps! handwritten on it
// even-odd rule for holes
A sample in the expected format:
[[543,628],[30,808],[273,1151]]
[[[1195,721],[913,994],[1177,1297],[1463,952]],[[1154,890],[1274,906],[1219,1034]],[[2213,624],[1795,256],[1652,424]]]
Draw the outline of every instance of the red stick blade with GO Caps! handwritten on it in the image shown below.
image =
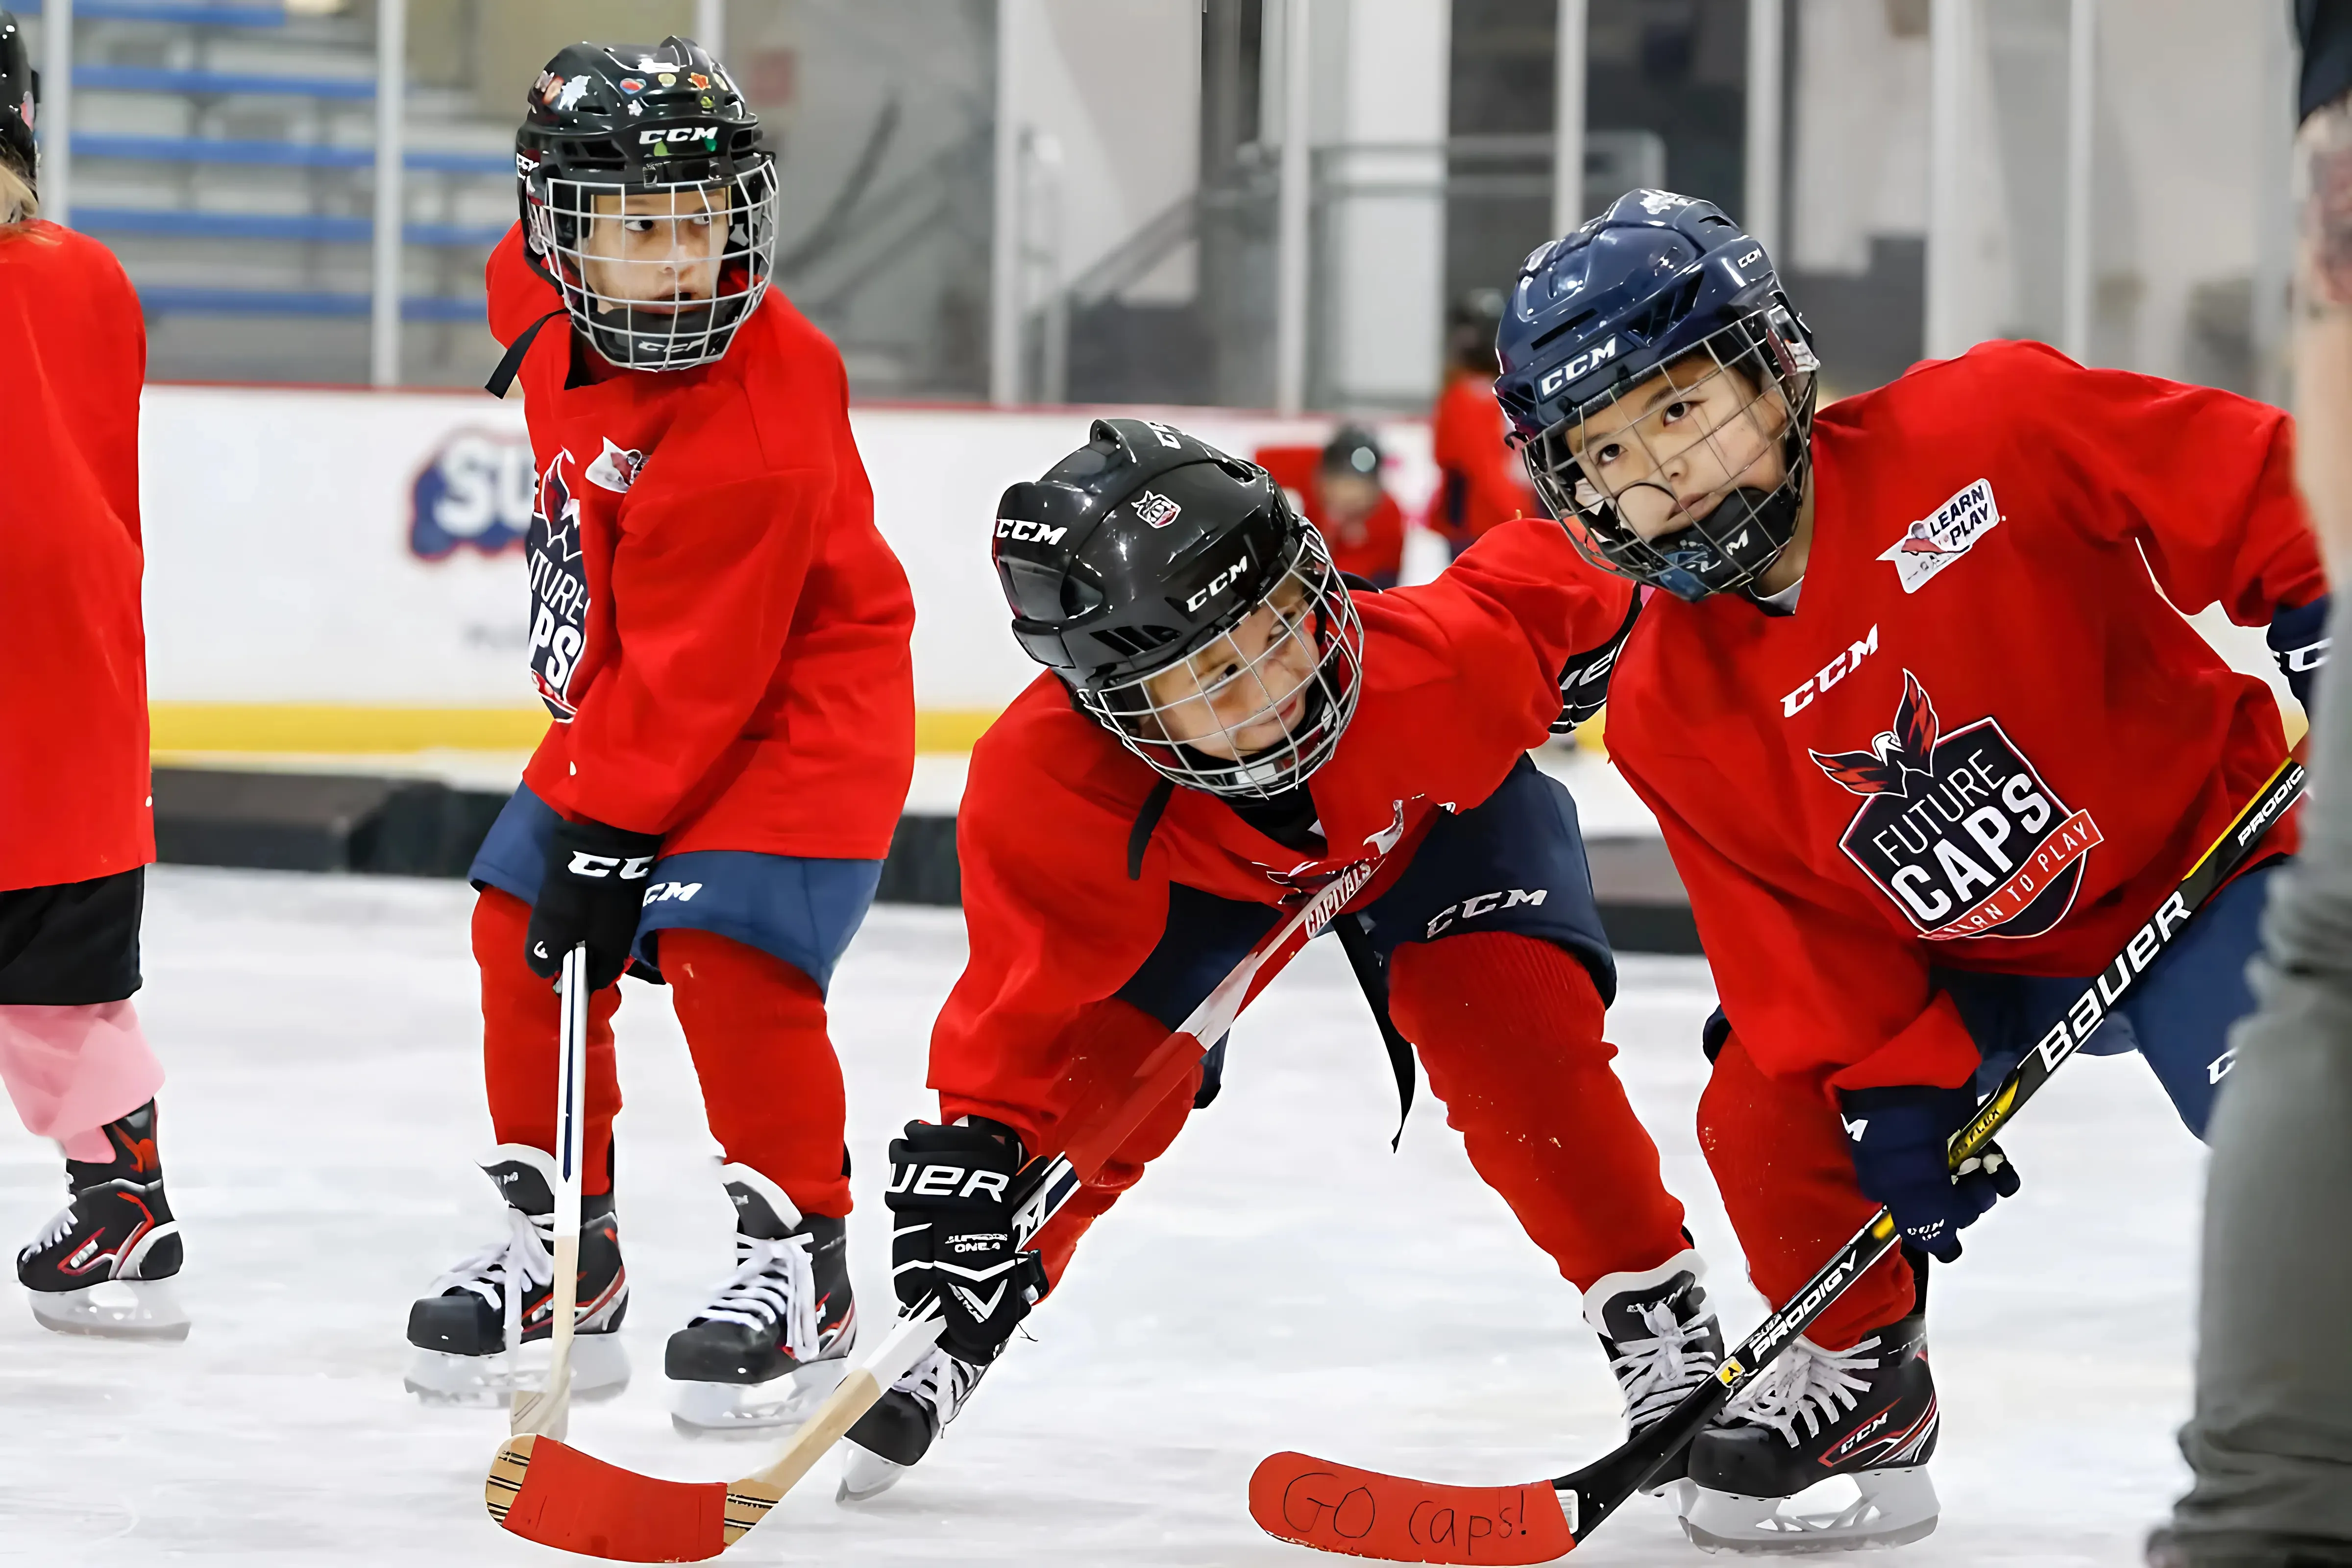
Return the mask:
[[1249,1516],[1279,1540],[1390,1563],[1548,1563],[1576,1547],[1550,1481],[1437,1486],[1303,1453],[1258,1465]]

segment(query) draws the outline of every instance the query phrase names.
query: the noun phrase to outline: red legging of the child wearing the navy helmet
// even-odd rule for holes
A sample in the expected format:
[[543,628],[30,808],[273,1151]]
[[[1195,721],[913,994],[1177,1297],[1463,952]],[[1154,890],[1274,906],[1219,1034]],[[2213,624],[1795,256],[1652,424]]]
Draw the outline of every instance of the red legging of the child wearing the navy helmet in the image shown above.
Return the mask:
[[[1879,1211],[1853,1182],[1846,1128],[1820,1086],[1764,1077],[1738,1034],[1724,1039],[1698,1095],[1698,1147],[1748,1251],[1748,1279],[1776,1309]],[[1912,1272],[1896,1251],[1853,1281],[1806,1338],[1846,1349],[1910,1309]]]

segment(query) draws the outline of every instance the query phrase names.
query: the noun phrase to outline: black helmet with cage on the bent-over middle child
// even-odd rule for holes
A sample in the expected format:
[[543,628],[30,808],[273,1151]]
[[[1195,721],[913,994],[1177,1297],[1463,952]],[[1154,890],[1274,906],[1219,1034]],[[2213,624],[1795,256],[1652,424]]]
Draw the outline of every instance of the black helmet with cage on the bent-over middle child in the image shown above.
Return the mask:
[[1004,491],[993,555],[1028,656],[1162,776],[1268,799],[1338,750],[1364,628],[1263,468],[1160,421],[1098,418]]

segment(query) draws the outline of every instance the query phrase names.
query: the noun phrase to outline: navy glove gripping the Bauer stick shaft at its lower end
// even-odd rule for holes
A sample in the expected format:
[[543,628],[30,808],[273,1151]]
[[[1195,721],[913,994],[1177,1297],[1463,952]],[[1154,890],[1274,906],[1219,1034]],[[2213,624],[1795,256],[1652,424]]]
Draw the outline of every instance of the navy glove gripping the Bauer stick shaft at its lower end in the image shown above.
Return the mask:
[[1837,1103],[1853,1178],[1886,1204],[1905,1241],[1940,1262],[1959,1258],[1962,1227],[2018,1190],[2018,1168],[1997,1143],[1950,1168],[1952,1133],[1976,1114],[1966,1088],[1844,1088]]

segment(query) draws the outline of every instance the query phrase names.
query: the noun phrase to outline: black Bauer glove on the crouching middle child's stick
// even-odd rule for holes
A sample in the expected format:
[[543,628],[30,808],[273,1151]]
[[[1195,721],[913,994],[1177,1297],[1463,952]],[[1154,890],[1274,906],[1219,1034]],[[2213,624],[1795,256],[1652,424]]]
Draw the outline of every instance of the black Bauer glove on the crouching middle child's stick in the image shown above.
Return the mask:
[[1030,1305],[1044,1295],[1044,1260],[1014,1251],[1014,1173],[1021,1138],[995,1121],[908,1121],[889,1145],[889,1192],[898,1215],[889,1246],[891,1286],[908,1314],[938,1300],[938,1347],[988,1366]]

